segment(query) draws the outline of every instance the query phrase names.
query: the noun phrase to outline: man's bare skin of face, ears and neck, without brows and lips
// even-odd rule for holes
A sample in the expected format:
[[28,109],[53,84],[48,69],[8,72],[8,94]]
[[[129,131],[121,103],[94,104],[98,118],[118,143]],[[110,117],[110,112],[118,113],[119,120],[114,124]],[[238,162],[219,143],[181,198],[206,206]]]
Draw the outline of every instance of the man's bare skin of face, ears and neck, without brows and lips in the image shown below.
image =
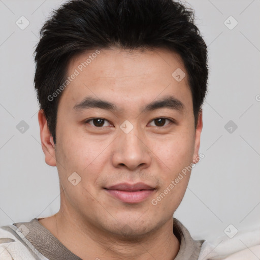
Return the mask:
[[[68,76],[95,50],[74,57]],[[38,118],[45,161],[56,166],[60,180],[60,210],[39,220],[68,249],[83,259],[173,259],[179,241],[172,232],[173,213],[188,185],[190,172],[161,199],[172,180],[198,157],[202,113],[194,128],[192,96],[179,55],[169,50],[101,49],[100,54],[63,90],[57,111],[56,145],[42,110]],[[177,82],[172,73],[186,76]],[[159,108],[141,113],[145,105],[174,96],[182,111]],[[75,111],[86,96],[109,101],[119,109]],[[163,126],[154,119],[167,117]],[[87,119],[104,118],[103,127]],[[125,134],[120,125],[133,129]],[[159,125],[159,126],[158,126]],[[81,181],[72,185],[77,172]],[[124,203],[104,189],[144,182],[155,188],[136,204]]]

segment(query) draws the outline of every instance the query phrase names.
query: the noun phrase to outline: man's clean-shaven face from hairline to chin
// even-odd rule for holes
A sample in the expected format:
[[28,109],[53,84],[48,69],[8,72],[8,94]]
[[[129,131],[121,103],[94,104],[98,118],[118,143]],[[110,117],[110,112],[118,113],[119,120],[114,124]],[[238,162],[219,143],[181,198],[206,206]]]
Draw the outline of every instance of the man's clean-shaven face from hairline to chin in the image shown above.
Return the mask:
[[[71,60],[68,76],[79,75],[58,105],[61,209],[101,232],[148,234],[172,220],[184,196],[190,172],[170,184],[198,155],[202,124],[196,131],[187,76],[181,81],[172,76],[178,68],[186,73],[177,54],[115,48],[91,56],[94,52]],[[89,55],[91,62],[80,66]],[[81,104],[86,98],[114,109]],[[147,107],[164,99],[171,102]],[[81,177],[75,186],[68,180],[72,173],[74,184]],[[149,187],[131,186],[136,183]],[[156,199],[162,192],[167,194]]]

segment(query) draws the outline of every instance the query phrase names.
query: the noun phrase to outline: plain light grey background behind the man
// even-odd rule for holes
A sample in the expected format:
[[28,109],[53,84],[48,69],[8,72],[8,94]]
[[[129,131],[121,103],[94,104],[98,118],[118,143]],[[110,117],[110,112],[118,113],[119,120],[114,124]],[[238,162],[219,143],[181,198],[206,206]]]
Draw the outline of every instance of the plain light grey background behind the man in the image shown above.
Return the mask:
[[[40,144],[32,53],[43,22],[62,2],[0,0],[0,225],[59,209],[57,171],[45,164]],[[239,232],[260,226],[260,1],[190,4],[209,46],[200,149],[205,158],[194,168],[175,217],[194,238],[212,241],[229,224]],[[21,16],[29,21],[24,30],[16,25]],[[232,30],[224,24],[230,16],[238,21]],[[16,128],[21,120],[29,125],[23,134]],[[224,128],[230,120],[238,126],[233,133]]]

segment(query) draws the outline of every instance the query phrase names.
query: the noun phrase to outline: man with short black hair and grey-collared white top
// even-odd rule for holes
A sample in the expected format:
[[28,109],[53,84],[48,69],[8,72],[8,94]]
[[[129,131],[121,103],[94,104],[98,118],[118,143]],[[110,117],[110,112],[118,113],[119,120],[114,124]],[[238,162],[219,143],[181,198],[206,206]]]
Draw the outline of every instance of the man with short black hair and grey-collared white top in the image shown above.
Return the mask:
[[199,153],[207,47],[171,0],[70,1],[45,23],[35,88],[60,210],[0,232],[1,259],[209,259],[173,218]]

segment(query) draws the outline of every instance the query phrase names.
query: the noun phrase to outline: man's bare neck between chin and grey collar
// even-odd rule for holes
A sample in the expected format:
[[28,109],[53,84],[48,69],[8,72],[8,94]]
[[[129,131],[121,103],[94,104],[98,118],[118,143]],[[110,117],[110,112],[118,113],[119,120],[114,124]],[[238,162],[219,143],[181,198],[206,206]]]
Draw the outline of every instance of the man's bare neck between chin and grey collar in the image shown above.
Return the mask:
[[[71,212],[71,211],[69,211]],[[60,208],[39,220],[64,246],[82,259],[166,259],[176,257],[180,244],[173,234],[173,218],[142,238],[118,237],[87,224]]]

